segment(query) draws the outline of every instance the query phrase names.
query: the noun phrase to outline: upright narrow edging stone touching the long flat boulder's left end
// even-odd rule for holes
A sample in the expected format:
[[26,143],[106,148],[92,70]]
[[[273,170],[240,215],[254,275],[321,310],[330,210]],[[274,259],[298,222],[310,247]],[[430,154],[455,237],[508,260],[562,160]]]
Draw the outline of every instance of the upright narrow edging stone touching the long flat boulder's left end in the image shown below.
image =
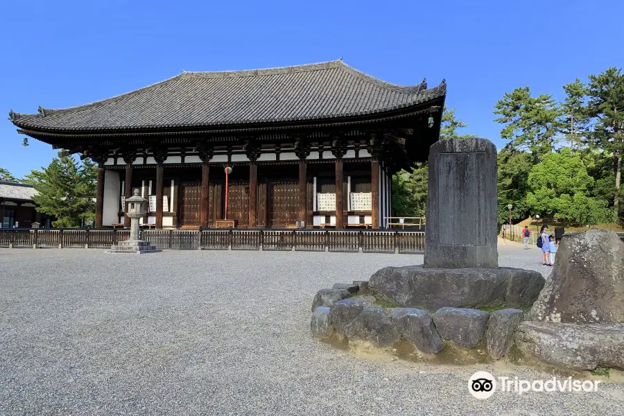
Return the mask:
[[494,360],[507,355],[514,342],[514,331],[524,316],[520,309],[501,309],[489,314],[485,343],[487,352]]

